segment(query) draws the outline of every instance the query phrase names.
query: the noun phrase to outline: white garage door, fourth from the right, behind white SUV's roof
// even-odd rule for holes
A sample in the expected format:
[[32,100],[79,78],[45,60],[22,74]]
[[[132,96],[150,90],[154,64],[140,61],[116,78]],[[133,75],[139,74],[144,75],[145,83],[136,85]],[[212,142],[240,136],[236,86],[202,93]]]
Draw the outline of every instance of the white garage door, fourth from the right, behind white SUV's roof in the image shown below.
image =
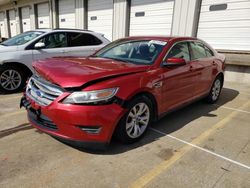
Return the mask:
[[75,28],[75,0],[59,0],[59,27]]

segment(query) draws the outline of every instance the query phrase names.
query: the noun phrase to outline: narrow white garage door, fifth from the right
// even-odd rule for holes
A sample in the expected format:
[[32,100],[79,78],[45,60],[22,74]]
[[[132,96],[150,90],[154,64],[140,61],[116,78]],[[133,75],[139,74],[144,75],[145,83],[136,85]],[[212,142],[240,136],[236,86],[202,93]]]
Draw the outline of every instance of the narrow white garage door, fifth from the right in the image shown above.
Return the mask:
[[50,28],[49,3],[37,4],[37,27]]

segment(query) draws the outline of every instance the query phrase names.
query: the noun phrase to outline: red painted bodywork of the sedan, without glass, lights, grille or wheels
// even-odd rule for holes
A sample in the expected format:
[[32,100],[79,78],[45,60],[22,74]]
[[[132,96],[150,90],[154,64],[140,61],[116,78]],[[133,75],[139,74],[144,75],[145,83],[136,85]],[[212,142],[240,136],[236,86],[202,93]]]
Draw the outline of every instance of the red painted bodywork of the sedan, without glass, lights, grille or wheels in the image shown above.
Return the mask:
[[[207,94],[215,77],[224,71],[225,58],[217,52],[214,57],[186,62],[185,65],[161,66],[164,56],[175,42],[197,40],[196,38],[130,37],[122,40],[140,39],[161,40],[168,43],[153,65],[133,65],[91,57],[61,57],[37,61],[33,66],[45,79],[64,88],[79,87],[90,81],[112,76],[110,79],[88,84],[83,90],[119,87],[116,96],[126,101],[138,93],[148,92],[155,97],[159,116]],[[180,59],[172,58],[171,61],[181,63]],[[162,87],[154,87],[155,82],[162,82]],[[109,142],[126,109],[114,103],[96,106],[62,104],[61,101],[69,94],[64,93],[47,107],[41,107],[29,99],[32,106],[35,109],[41,108],[42,113],[53,120],[59,129],[49,131],[34,126],[49,134],[70,140]],[[99,135],[89,135],[76,125],[98,125],[102,127],[102,131]]]

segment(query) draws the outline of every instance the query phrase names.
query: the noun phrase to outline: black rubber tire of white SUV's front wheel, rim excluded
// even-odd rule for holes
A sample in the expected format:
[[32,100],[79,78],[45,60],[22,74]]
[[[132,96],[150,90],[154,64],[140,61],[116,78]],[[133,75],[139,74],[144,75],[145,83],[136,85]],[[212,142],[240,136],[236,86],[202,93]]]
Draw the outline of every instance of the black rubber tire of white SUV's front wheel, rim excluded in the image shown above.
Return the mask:
[[0,66],[0,76],[6,70],[15,70],[15,71],[17,71],[21,76],[21,84],[20,84],[20,86],[18,88],[14,89],[14,90],[6,90],[0,84],[0,92],[2,92],[4,94],[11,94],[11,93],[16,93],[18,91],[21,91],[24,88],[25,83],[26,83],[27,76],[25,76],[25,73],[19,67],[14,67],[14,66],[11,66],[11,65],[2,65],[2,66]]

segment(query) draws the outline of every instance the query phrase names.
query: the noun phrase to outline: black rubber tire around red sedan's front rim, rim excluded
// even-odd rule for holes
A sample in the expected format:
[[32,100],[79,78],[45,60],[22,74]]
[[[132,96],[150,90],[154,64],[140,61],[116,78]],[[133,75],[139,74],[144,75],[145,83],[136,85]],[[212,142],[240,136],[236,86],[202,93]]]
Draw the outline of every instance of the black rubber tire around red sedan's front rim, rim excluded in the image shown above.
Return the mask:
[[[149,119],[149,123],[147,125],[147,128],[145,129],[145,131],[143,132],[143,134],[137,138],[131,138],[126,131],[126,121],[127,121],[127,117],[128,114],[130,112],[130,110],[138,103],[146,103],[149,107],[150,110],[150,119]],[[145,96],[141,96],[141,97],[136,97],[134,99],[132,99],[128,105],[127,105],[127,109],[128,111],[126,112],[126,114],[121,118],[120,122],[117,125],[116,131],[115,131],[115,137],[122,142],[123,144],[131,144],[134,142],[137,142],[138,140],[140,140],[146,133],[149,125],[152,122],[153,119],[153,105],[151,100],[148,97]]]

